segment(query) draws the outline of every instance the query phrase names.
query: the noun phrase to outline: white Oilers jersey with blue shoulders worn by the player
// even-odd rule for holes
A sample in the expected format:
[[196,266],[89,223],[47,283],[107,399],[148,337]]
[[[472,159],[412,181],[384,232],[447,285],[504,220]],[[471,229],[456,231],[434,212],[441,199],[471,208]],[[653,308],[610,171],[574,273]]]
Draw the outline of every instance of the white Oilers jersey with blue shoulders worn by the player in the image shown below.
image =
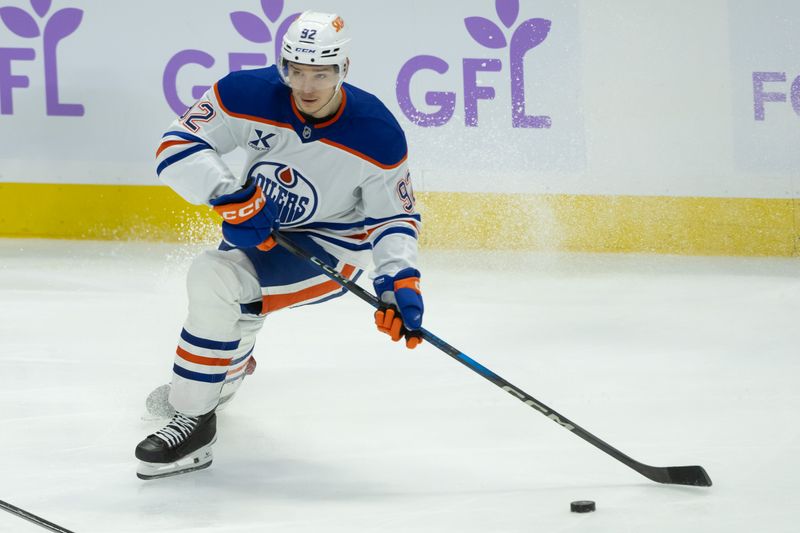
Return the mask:
[[[347,83],[341,91],[336,115],[310,124],[274,66],[231,73],[164,134],[158,176],[193,204],[253,179],[280,208],[282,230],[361,268],[372,259],[376,275],[416,268],[420,216],[403,131],[377,97]],[[220,157],[237,147],[242,176]]]

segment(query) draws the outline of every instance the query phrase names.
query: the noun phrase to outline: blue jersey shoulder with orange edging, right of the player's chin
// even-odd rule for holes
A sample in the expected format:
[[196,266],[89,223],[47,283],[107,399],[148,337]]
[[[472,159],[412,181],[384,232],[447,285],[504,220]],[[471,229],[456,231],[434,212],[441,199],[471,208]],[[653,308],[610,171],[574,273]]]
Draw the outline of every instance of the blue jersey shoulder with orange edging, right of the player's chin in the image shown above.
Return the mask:
[[383,168],[394,168],[408,155],[403,128],[380,99],[353,85],[344,84],[347,95],[347,127],[337,129],[331,140],[355,150]]

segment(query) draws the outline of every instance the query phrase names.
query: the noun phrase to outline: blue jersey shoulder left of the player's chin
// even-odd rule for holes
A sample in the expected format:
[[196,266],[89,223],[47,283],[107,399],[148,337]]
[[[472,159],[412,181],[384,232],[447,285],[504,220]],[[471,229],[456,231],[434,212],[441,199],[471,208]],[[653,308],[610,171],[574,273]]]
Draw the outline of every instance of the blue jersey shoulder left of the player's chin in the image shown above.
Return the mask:
[[271,67],[231,72],[215,86],[222,110],[232,116],[255,116],[277,120],[276,102],[287,101],[289,88]]

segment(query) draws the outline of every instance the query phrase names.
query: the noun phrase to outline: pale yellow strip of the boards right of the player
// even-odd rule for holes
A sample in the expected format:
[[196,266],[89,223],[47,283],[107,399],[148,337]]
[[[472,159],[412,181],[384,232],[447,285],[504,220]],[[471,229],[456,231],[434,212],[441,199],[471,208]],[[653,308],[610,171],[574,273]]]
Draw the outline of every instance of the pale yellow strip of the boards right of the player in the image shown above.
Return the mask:
[[433,248],[800,255],[800,199],[419,194]]

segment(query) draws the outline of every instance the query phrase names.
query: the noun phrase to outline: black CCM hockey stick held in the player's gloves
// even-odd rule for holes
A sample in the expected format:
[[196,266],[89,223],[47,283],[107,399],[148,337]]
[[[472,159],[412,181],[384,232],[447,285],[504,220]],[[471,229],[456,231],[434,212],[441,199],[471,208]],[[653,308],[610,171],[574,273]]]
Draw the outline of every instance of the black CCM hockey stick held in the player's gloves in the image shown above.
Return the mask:
[[[339,283],[342,287],[346,288],[372,307],[376,309],[380,305],[378,298],[375,295],[369,293],[368,291],[364,290],[353,281],[345,278],[339,272],[337,272],[333,267],[326,264],[324,261],[314,257],[310,253],[306,252],[296,244],[294,244],[291,240],[286,238],[286,236],[282,235],[278,231],[274,231],[272,233],[273,237],[277,241],[278,244],[286,248],[289,252],[294,254],[297,257],[306,259],[316,265],[319,269],[321,269],[325,275],[327,275],[332,280]],[[467,357],[463,352],[457,350],[456,348],[450,346],[445,341],[431,333],[430,331],[426,330],[425,328],[421,328],[422,331],[422,338],[426,341],[430,342],[441,351],[458,361],[459,363],[463,364],[464,366],[468,367],[470,370],[480,374],[487,380],[491,381],[504,391],[508,392],[515,398],[519,399],[526,405],[533,407],[547,418],[552,420],[553,422],[557,423],[561,427],[564,427],[570,430],[572,433],[576,434],[592,446],[599,448],[600,450],[606,452],[608,455],[620,461],[621,463],[629,466],[630,468],[636,470],[644,477],[652,480],[657,481],[658,483],[668,483],[673,485],[694,485],[698,487],[710,487],[711,486],[711,478],[708,477],[705,469],[702,466],[650,466],[644,463],[640,463],[635,459],[625,455],[621,451],[617,450],[607,442],[602,441],[601,439],[595,437],[575,422],[572,422],[564,415],[561,415],[551,409],[550,407],[546,406],[539,400],[533,398],[529,394],[523,392],[521,389],[515,387],[505,379],[501,378],[485,366],[481,365],[477,361],[470,359]]]

